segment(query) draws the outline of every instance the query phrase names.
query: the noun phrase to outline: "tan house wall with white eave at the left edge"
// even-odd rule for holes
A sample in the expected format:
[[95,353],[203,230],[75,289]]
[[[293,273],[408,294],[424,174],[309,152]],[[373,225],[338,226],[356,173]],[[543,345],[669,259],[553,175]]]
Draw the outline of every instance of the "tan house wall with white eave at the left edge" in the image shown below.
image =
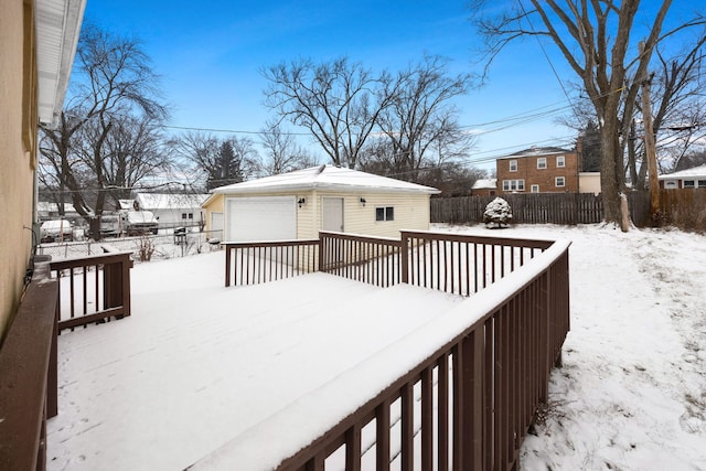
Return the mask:
[[20,306],[33,245],[39,243],[38,124],[55,125],[61,114],[84,8],[85,0],[2,0],[0,345]]

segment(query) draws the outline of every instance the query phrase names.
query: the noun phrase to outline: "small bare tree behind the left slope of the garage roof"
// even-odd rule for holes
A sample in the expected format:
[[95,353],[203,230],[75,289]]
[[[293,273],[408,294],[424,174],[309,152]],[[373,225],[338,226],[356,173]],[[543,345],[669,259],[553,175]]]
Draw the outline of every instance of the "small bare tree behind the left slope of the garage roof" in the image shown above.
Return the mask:
[[317,164],[315,158],[297,142],[296,136],[284,132],[279,124],[267,124],[260,132],[260,144],[265,149],[265,174],[276,175]]

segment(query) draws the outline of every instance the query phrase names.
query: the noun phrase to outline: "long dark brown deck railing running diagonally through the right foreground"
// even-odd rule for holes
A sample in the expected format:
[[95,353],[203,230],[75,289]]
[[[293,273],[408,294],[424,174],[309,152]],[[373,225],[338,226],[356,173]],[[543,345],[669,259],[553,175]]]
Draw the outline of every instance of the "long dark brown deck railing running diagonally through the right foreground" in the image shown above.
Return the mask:
[[[278,469],[324,469],[335,453],[346,471],[362,462],[387,470],[392,461],[404,470],[515,469],[569,330],[568,245],[555,244],[512,280],[462,303],[451,315],[472,322],[458,335]],[[399,347],[425,351],[434,332],[430,323]],[[391,422],[393,405],[398,427]],[[361,437],[371,428],[374,457],[366,457]]]

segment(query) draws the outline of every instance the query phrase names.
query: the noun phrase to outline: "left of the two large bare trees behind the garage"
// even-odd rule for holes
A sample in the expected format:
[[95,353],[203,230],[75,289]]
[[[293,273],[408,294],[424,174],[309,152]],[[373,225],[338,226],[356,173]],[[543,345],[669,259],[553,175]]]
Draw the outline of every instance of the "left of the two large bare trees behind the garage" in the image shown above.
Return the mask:
[[354,169],[377,117],[391,98],[381,93],[387,74],[374,76],[346,57],[314,64],[281,63],[263,71],[269,81],[265,104],[280,119],[313,136],[335,165]]

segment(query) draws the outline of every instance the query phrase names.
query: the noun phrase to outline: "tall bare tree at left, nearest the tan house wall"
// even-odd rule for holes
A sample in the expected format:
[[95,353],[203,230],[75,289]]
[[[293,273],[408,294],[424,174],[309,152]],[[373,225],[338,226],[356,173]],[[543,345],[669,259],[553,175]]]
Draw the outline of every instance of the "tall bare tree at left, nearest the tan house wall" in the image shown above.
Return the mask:
[[[40,171],[55,172],[61,191],[71,194],[76,212],[89,221],[94,237],[98,237],[99,221],[94,216],[103,213],[106,189],[113,186],[104,159],[114,127],[132,119],[128,117],[139,121],[142,116],[153,126],[167,119],[169,110],[161,103],[159,77],[137,41],[86,25],[78,42],[76,65],[69,105],[63,110],[58,127],[41,128],[40,150],[46,164]],[[81,164],[75,163],[77,160]],[[92,172],[95,201],[87,201],[76,174],[76,170],[86,169]]]

